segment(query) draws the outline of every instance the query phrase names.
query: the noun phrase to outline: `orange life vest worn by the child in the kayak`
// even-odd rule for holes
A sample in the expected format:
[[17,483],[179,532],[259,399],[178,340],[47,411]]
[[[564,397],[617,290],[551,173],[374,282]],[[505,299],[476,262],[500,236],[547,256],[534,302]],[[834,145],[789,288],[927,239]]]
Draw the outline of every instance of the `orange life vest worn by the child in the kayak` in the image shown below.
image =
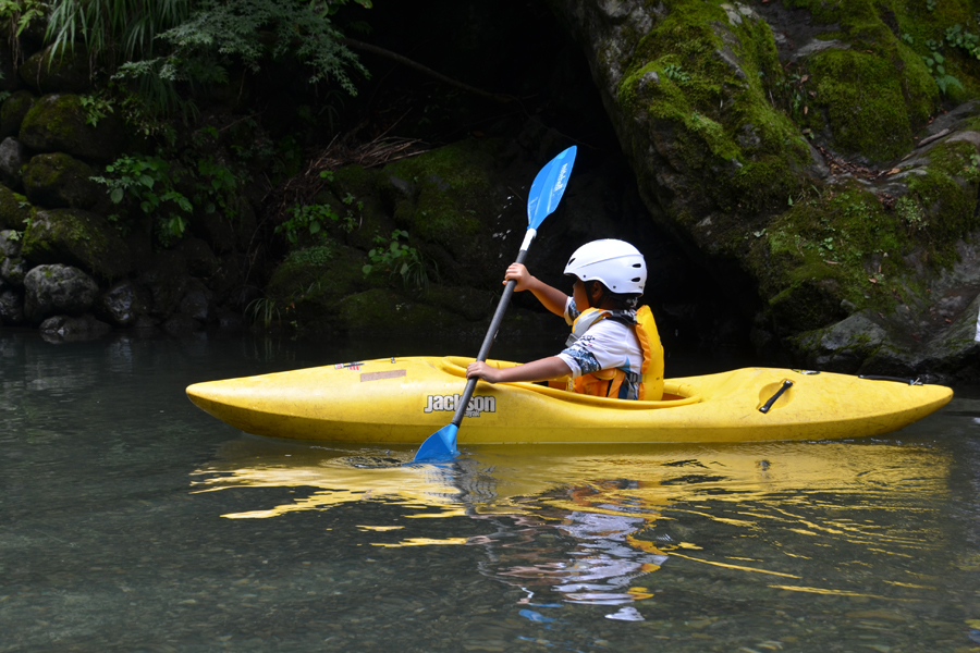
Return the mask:
[[[600,320],[613,316],[624,319],[621,317],[623,312],[626,311],[613,312],[597,308],[585,310],[576,318],[572,326],[572,336],[578,340]],[[639,374],[620,368],[599,370],[574,379],[569,390],[579,394],[617,398],[623,382],[628,379],[637,384],[637,399],[659,402],[663,397],[663,345],[660,343],[660,334],[649,306],[637,309],[634,331],[644,352],[644,365]]]

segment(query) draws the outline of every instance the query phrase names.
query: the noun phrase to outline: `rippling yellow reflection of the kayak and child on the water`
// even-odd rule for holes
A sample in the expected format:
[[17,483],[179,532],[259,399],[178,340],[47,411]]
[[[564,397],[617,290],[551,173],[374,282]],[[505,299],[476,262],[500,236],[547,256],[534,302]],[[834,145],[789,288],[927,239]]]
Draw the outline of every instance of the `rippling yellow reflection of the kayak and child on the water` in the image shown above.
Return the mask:
[[[665,590],[656,572],[671,566],[712,568],[773,595],[906,600],[938,590],[928,566],[915,564],[938,546],[916,513],[921,497],[946,493],[950,461],[920,447],[477,447],[453,465],[403,466],[412,453],[242,438],[195,470],[193,486],[304,489],[224,515],[232,519],[352,502],[402,506],[408,526],[358,528],[377,534],[376,546],[481,547],[479,571],[519,588],[531,620],[567,603],[642,620],[642,605]],[[462,516],[486,533],[455,537],[452,520],[431,520]]]

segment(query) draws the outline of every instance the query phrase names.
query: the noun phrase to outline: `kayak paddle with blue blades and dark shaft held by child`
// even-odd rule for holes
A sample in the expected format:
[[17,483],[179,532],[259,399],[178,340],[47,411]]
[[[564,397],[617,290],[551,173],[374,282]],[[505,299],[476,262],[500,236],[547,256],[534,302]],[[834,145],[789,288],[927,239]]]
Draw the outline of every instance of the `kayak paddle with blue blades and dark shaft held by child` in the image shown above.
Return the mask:
[[[575,163],[576,149],[575,146],[572,146],[560,153],[549,161],[535,177],[530,193],[527,196],[527,233],[524,235],[524,243],[520,244],[520,251],[517,254],[516,262],[523,263],[524,259],[527,258],[527,250],[538,233],[538,226],[554,211],[562,200],[568,174],[572,173],[572,164]],[[497,312],[493,313],[493,319],[490,321],[490,329],[483,338],[480,354],[477,356],[478,361],[487,360],[487,356],[490,354],[490,346],[497,340],[497,332],[500,329],[500,323],[503,321],[503,315],[507,309],[507,304],[511,301],[511,295],[514,294],[514,286],[516,285],[517,282],[514,280],[507,282],[503,296],[500,298],[500,304],[497,305]],[[466,382],[466,390],[463,391],[463,395],[456,402],[456,412],[453,415],[453,421],[429,435],[422,442],[421,446],[418,447],[418,453],[415,454],[416,463],[448,460],[460,453],[456,451],[456,433],[460,431],[463,417],[466,415],[469,399],[473,398],[473,391],[476,389],[477,381],[478,379],[474,377]]]

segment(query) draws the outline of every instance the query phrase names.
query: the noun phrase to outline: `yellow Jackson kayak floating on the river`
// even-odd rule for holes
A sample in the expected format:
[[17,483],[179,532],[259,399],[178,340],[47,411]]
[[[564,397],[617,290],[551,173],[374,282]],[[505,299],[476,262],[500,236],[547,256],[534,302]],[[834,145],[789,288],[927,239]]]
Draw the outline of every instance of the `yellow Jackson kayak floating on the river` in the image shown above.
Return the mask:
[[[257,435],[419,444],[452,420],[470,360],[381,358],[196,383],[187,396]],[[952,397],[941,385],[769,368],[667,380],[660,402],[480,382],[460,444],[837,440],[902,429]]]

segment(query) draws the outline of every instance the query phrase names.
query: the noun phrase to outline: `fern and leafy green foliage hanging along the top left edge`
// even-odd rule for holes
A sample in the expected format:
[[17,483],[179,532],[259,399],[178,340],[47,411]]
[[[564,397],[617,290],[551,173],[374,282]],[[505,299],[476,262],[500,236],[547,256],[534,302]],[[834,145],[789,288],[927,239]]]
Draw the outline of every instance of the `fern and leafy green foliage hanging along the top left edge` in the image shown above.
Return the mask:
[[[59,0],[47,35],[52,58],[84,45],[117,83],[134,82],[139,101],[130,112],[186,119],[194,107],[179,84],[192,90],[224,84],[232,65],[255,72],[283,57],[305,64],[311,83],[330,79],[356,94],[347,72],[367,71],[331,22],[351,1],[371,7],[370,0]],[[0,17],[29,22],[45,7],[0,0]]]

